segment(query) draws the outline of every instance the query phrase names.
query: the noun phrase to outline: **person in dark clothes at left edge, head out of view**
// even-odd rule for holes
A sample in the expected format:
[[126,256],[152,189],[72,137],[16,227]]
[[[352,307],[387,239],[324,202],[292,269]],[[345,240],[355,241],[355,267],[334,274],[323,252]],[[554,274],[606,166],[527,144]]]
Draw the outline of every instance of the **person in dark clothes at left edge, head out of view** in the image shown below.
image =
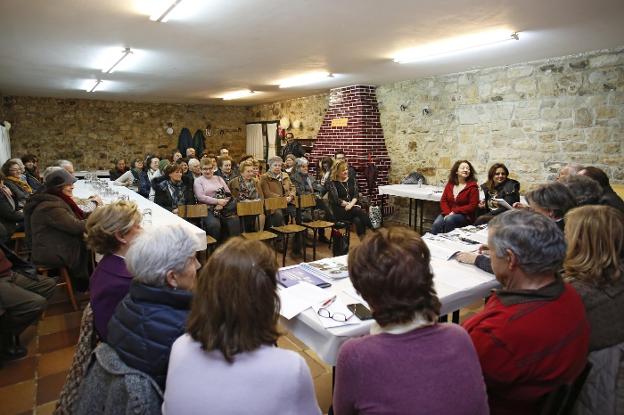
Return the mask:
[[36,274],[35,267],[0,244],[0,359],[26,355],[20,334],[37,321],[54,293],[56,282]]

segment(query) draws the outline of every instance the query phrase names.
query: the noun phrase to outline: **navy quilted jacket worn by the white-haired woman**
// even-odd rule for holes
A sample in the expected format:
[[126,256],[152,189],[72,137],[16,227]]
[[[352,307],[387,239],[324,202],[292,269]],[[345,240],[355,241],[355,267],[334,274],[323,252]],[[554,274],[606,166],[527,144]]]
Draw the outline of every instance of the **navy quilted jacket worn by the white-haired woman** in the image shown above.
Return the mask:
[[173,342],[184,334],[191,293],[133,282],[108,322],[107,343],[165,389]]

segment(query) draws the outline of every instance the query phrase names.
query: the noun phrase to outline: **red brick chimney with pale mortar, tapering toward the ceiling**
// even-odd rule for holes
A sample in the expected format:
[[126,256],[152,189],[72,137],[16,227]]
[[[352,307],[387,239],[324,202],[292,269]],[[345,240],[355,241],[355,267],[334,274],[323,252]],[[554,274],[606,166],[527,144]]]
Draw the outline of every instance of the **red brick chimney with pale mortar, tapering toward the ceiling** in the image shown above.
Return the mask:
[[[372,85],[352,85],[330,91],[329,108],[311,158],[316,167],[321,158],[333,156],[338,149],[344,150],[349,164],[357,171],[360,192],[371,203],[379,204],[377,186],[388,184],[390,158],[379,122],[375,89]],[[370,189],[365,175],[369,155],[377,167],[377,180]]]

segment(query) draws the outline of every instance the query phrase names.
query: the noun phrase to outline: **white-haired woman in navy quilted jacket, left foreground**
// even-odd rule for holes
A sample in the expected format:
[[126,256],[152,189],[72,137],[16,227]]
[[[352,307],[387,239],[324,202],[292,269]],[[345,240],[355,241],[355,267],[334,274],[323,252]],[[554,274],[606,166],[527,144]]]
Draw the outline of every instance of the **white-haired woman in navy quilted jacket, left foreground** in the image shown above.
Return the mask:
[[184,333],[199,262],[197,238],[175,225],[150,227],[126,254],[134,276],[108,323],[107,343],[128,366],[165,386],[171,345]]

